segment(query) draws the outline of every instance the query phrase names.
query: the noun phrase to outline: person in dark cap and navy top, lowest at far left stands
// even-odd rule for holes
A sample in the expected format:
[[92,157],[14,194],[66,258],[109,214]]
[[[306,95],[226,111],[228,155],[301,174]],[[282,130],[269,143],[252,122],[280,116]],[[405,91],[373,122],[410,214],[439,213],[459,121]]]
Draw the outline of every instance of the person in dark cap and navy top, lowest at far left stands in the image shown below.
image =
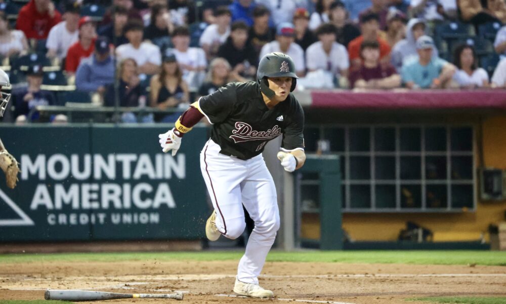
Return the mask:
[[31,65],[26,72],[26,82],[28,86],[13,92],[14,97],[14,117],[16,122],[36,121],[39,119],[39,113],[34,112],[31,117],[28,113],[37,105],[53,105],[55,97],[53,92],[41,90],[44,72],[41,65]]

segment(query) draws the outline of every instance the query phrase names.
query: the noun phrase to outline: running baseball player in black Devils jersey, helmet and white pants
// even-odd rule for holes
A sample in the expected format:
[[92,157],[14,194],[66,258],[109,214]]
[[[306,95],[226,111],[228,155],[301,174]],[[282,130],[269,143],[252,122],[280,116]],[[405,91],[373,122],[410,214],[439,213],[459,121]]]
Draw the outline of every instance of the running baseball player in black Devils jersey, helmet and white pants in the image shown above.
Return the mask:
[[174,129],[158,136],[163,152],[172,150],[174,156],[183,135],[201,118],[213,125],[200,153],[202,176],[215,209],[205,234],[210,241],[220,235],[238,238],[246,225],[242,205],[255,221],[237,269],[234,292],[239,295],[274,296],[258,282],[279,229],[276,189],[262,151],[269,140],[283,134],[278,158],[284,169],[292,172],[306,161],[304,112],[290,94],[297,84],[295,71],[289,56],[267,54],[260,60],[257,82],[230,83],[201,97]]

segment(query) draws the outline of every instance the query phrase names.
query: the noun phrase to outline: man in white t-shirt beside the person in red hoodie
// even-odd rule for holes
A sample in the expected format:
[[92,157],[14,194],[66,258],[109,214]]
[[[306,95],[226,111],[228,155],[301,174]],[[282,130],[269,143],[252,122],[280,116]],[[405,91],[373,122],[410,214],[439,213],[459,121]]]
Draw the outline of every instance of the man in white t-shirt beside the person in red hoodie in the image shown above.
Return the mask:
[[67,56],[68,48],[79,40],[79,23],[80,6],[77,3],[68,3],[65,6],[65,13],[62,21],[53,26],[49,31],[46,48],[49,58],[58,57],[63,59]]

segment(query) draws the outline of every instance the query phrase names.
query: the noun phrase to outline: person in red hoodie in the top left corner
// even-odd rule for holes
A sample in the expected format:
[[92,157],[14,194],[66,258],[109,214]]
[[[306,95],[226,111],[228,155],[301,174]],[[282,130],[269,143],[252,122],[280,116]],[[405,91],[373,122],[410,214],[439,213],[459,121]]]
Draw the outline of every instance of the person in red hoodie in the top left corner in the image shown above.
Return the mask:
[[16,29],[22,30],[27,39],[46,39],[49,30],[61,20],[51,0],[30,0],[19,11]]

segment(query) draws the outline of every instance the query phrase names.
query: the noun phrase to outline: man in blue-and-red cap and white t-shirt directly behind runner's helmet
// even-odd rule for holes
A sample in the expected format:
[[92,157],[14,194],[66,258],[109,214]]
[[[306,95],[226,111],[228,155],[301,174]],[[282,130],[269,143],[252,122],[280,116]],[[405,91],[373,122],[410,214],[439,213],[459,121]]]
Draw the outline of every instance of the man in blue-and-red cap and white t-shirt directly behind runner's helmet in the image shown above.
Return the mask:
[[304,63],[304,50],[294,43],[295,29],[289,22],[280,23],[276,28],[276,40],[262,47],[259,58],[273,52],[281,52],[291,57],[297,68],[297,76],[304,77],[306,64]]

